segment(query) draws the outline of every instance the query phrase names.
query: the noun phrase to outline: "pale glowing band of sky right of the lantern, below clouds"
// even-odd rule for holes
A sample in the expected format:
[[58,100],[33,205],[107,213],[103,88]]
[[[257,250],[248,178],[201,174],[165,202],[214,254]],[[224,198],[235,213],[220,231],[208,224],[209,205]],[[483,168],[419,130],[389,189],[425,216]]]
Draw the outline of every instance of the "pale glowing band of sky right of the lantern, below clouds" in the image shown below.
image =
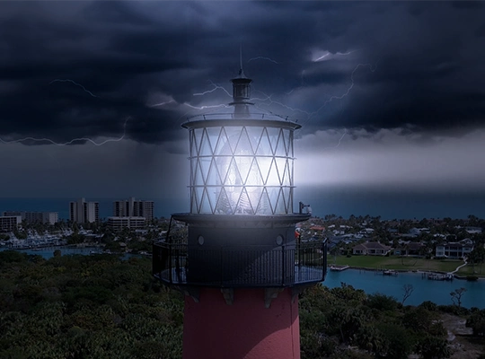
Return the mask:
[[[353,138],[356,133],[347,133],[318,131],[295,140],[296,186],[485,189],[485,130],[463,137],[429,135],[427,144],[395,130]],[[339,141],[338,148],[331,145]]]

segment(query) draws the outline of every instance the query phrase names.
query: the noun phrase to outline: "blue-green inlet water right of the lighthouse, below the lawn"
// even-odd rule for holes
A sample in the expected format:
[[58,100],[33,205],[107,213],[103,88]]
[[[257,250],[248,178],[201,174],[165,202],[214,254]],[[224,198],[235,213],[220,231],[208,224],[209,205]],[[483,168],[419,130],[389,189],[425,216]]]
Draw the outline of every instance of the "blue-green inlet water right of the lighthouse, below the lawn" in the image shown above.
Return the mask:
[[362,289],[367,294],[382,293],[391,295],[399,302],[404,293],[403,285],[412,285],[414,291],[405,304],[419,305],[431,301],[437,304],[453,304],[450,293],[458,288],[465,288],[462,305],[466,308],[477,307],[485,309],[485,280],[468,282],[463,279],[453,281],[435,281],[423,277],[421,273],[400,272],[398,276],[382,276],[379,272],[359,269],[346,269],[341,272],[329,270],[322,285],[329,288],[340,286],[341,283]]

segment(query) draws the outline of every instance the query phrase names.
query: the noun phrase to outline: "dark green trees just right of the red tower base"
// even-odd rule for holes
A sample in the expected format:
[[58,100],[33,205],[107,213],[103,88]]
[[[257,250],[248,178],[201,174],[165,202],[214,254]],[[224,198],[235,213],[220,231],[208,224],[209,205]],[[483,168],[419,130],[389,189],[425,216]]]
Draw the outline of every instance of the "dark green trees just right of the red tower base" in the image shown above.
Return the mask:
[[450,355],[436,305],[403,307],[390,296],[366,295],[351,285],[306,291],[300,300],[300,328],[302,358]]

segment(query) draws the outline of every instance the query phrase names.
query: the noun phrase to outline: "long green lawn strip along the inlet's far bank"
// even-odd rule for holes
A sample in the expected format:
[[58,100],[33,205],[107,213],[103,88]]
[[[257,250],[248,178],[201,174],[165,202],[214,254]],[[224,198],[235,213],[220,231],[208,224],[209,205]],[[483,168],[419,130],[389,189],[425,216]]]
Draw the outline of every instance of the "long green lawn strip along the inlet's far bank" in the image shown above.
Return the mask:
[[[336,260],[335,260],[336,259]],[[376,269],[404,269],[404,270],[431,270],[438,272],[453,272],[456,267],[463,264],[458,259],[425,259],[412,257],[381,257],[381,256],[328,256],[329,266],[348,265],[351,267],[366,267]]]

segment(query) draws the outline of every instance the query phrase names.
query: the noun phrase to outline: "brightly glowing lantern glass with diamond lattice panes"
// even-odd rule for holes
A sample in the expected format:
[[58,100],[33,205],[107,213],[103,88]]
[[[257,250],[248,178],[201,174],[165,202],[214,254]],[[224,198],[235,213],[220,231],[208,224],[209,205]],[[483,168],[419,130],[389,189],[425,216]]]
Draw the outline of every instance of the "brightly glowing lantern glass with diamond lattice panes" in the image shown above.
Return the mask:
[[293,130],[190,129],[190,212],[287,215],[293,210]]

